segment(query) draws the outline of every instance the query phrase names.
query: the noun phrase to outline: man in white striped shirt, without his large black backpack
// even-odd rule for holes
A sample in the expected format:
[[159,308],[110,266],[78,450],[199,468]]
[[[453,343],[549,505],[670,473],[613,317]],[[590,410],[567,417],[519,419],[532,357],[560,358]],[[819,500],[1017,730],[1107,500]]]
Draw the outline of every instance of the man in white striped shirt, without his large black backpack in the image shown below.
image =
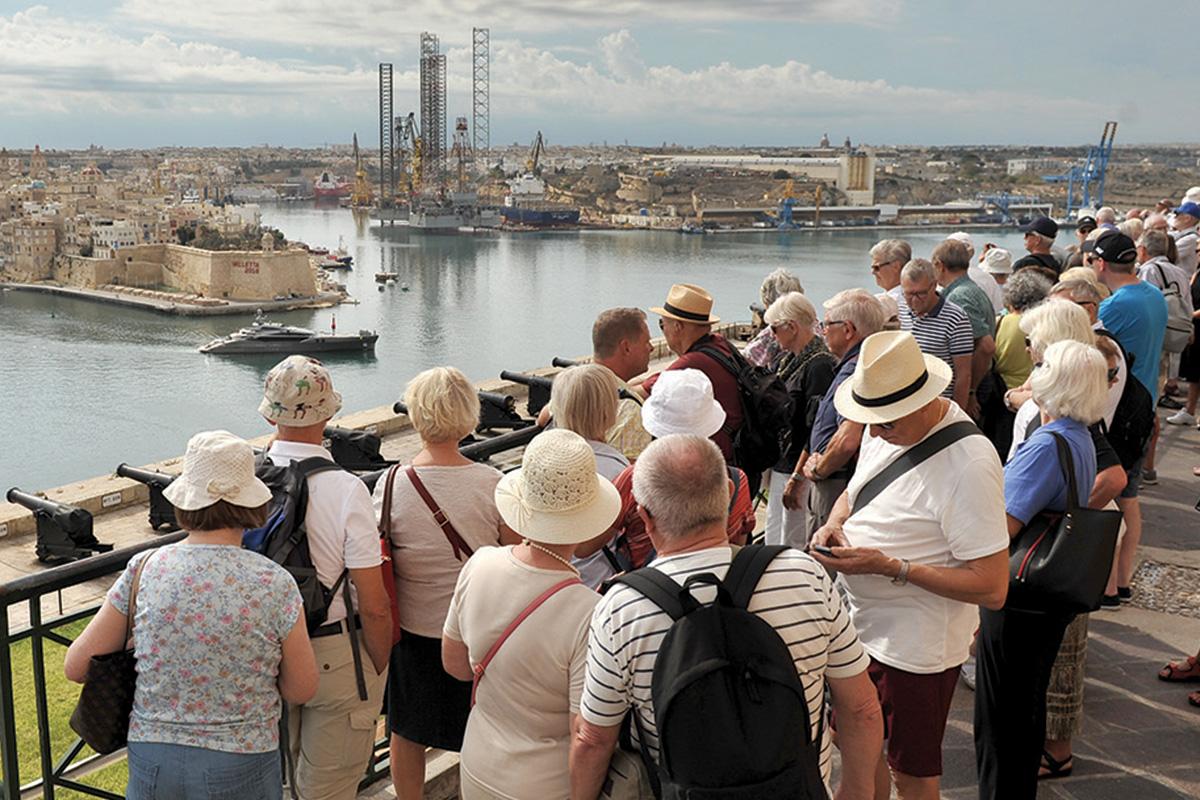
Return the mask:
[[[654,441],[634,468],[634,497],[658,552],[652,566],[680,584],[703,572],[725,577],[732,560],[725,529],[728,480],[721,452],[712,441],[678,434]],[[712,601],[714,593],[713,587],[695,589],[701,602]],[[823,730],[820,760],[826,781],[830,741],[820,720],[828,684],[838,714],[841,792],[871,796],[882,747],[882,716],[865,672],[868,656],[828,575],[806,554],[786,551],[762,576],[749,610],[769,622],[792,654],[814,740]],[[571,740],[571,798],[598,796],[622,721],[631,709],[646,730],[650,754],[658,758],[650,676],[670,627],[665,612],[624,584],[616,585],[596,606]],[[724,736],[730,747],[737,747],[734,733],[696,735]]]

